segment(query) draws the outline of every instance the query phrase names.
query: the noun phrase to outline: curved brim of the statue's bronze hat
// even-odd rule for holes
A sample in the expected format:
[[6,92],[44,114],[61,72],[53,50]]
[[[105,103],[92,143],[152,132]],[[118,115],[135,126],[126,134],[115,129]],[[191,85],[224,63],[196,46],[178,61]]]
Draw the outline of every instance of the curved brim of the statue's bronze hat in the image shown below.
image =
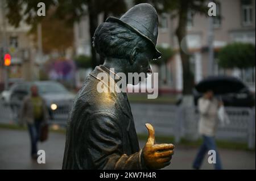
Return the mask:
[[137,33],[139,36],[142,36],[144,37],[147,41],[149,41],[151,43],[151,45],[154,47],[154,50],[155,50],[155,53],[154,53],[154,59],[158,59],[161,57],[162,53],[159,52],[159,50],[155,47],[155,44],[153,43],[152,40],[150,40],[147,36],[143,35],[141,32],[139,32],[136,28],[130,26],[130,24],[127,24],[125,22],[123,22],[122,20],[118,19],[118,18],[115,18],[115,17],[112,17],[110,16],[108,19],[106,19],[106,22],[115,22],[115,23],[119,23],[121,24],[122,26],[128,28],[129,30]]

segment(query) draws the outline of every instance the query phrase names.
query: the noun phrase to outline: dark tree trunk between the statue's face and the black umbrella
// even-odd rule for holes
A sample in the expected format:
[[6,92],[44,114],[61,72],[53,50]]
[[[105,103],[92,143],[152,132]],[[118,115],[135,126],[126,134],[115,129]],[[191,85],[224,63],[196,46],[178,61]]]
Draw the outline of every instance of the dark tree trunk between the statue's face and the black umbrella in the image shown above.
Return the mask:
[[179,24],[176,29],[177,39],[179,41],[179,52],[182,62],[183,68],[183,94],[189,95],[192,93],[193,88],[193,74],[190,70],[190,63],[189,63],[189,54],[187,54],[187,41],[182,42],[181,48],[181,41],[187,36],[187,14],[188,14],[188,6],[186,1],[181,1],[181,9],[179,10]]

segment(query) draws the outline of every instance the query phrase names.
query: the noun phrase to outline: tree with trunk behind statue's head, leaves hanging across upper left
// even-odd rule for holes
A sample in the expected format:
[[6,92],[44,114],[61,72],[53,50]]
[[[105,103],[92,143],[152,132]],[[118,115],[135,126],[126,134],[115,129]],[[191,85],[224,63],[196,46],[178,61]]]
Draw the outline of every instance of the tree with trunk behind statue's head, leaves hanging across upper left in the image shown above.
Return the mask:
[[[90,39],[93,40],[94,32],[98,26],[98,15],[103,12],[105,15],[113,14],[115,16],[122,14],[126,10],[125,0],[7,0],[7,15],[9,23],[15,27],[19,26],[22,19],[27,24],[36,27],[45,17],[36,15],[38,3],[43,2],[46,5],[46,12],[51,7],[55,7],[54,18],[64,20],[69,26],[80,20],[84,15],[89,16]],[[24,9],[24,10],[23,10]],[[26,17],[26,18],[24,18]],[[96,52],[91,44],[92,68],[100,64]]]

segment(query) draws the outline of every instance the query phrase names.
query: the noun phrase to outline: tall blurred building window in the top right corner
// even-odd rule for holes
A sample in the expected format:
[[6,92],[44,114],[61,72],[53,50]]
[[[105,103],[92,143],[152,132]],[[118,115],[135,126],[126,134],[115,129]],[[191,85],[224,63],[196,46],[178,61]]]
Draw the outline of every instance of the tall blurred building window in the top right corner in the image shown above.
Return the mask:
[[251,0],[242,0],[242,25],[250,26],[253,23],[253,5]]

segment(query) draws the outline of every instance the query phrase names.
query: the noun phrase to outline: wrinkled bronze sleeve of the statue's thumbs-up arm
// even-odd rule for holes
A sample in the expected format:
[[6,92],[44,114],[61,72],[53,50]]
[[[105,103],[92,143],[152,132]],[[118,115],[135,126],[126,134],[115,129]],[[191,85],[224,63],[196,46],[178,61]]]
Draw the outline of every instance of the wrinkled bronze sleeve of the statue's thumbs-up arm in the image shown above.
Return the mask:
[[144,169],[142,150],[131,155],[123,153],[123,133],[117,121],[108,112],[94,113],[90,117],[86,143],[92,169]]

